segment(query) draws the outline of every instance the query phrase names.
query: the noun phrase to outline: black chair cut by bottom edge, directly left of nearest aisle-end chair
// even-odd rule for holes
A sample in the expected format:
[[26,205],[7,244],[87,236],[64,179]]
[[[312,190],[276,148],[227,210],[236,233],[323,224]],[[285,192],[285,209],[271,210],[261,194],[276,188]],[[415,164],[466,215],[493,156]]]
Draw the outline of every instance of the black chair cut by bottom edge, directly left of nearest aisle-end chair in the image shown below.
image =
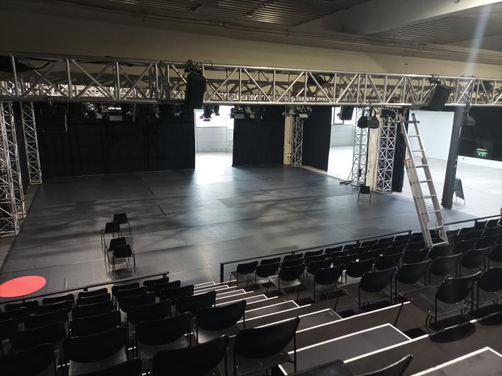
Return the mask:
[[154,376],[203,376],[224,359],[223,367],[227,375],[227,346],[228,336],[223,336],[200,345],[159,351],[153,355],[152,373]]

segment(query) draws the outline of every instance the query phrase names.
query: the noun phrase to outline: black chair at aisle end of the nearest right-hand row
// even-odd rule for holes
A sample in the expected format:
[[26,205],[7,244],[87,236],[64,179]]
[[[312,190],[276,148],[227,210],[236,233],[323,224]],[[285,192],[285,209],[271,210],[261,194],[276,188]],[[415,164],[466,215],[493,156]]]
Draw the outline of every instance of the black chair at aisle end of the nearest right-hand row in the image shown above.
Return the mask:
[[387,296],[384,290],[389,284],[391,285],[392,301],[392,277],[394,277],[395,272],[395,267],[391,267],[387,270],[378,270],[376,272],[365,272],[359,282],[342,284],[338,288],[357,302],[360,312],[364,308],[364,305],[384,299]]

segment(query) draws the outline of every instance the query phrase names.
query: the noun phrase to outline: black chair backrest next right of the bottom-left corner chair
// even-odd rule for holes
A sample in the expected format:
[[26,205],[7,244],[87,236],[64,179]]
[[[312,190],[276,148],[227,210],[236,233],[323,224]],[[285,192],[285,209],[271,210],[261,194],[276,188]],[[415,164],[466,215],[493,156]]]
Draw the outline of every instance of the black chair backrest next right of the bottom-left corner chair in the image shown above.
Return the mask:
[[114,328],[90,336],[70,337],[63,343],[65,357],[80,363],[96,362],[125,348],[127,329]]

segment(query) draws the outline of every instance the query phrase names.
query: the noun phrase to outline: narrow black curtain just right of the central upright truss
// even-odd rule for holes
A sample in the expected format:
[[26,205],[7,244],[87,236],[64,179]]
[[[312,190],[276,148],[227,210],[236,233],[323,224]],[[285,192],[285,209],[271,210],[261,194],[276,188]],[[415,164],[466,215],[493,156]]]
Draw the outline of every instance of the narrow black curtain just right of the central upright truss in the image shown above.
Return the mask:
[[303,122],[303,165],[328,171],[332,111],[330,106],[313,106]]

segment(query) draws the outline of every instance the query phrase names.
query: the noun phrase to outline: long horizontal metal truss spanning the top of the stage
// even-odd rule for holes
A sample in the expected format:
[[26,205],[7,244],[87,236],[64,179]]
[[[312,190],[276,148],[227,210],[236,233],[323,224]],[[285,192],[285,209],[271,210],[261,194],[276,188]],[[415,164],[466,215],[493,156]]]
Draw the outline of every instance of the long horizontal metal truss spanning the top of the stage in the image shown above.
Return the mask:
[[[169,103],[184,99],[186,63],[0,52],[3,101]],[[200,64],[206,104],[423,106],[436,83],[447,106],[502,106],[502,79]]]

